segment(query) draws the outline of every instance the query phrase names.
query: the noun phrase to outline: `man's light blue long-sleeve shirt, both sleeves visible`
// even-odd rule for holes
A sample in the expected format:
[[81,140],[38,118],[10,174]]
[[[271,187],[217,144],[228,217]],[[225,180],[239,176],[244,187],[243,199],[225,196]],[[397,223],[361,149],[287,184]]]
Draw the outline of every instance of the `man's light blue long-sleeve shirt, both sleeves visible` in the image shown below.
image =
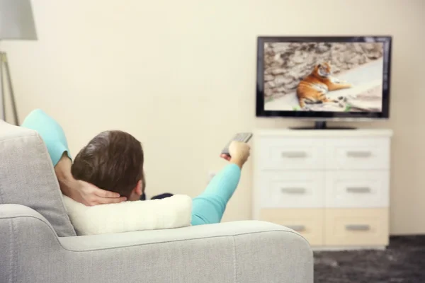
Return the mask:
[[[40,134],[45,141],[53,166],[56,166],[64,152],[72,158],[62,127],[44,111],[37,109],[30,112],[22,127],[34,129]],[[212,178],[204,192],[193,199],[192,225],[214,224],[221,221],[240,176],[239,166],[228,164]]]

